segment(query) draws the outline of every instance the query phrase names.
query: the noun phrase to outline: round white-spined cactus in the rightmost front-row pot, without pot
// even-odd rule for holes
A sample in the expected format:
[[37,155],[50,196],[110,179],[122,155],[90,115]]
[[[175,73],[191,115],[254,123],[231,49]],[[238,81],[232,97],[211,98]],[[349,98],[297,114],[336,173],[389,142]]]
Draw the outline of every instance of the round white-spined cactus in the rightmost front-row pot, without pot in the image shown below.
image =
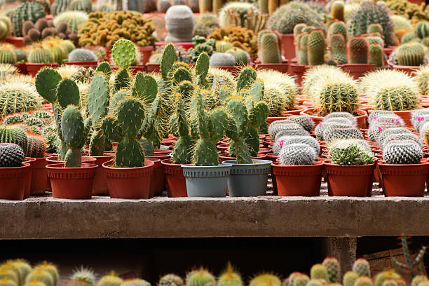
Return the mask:
[[414,141],[394,140],[383,148],[383,160],[387,164],[418,164],[421,158],[423,151]]

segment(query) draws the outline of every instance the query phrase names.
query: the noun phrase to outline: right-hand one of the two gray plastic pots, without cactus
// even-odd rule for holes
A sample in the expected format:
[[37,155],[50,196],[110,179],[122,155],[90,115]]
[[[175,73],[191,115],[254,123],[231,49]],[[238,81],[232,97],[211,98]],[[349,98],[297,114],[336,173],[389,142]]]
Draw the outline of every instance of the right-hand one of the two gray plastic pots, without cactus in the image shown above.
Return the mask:
[[238,164],[236,160],[222,162],[222,165],[231,165],[229,196],[265,196],[271,163],[258,159],[254,159],[252,164]]

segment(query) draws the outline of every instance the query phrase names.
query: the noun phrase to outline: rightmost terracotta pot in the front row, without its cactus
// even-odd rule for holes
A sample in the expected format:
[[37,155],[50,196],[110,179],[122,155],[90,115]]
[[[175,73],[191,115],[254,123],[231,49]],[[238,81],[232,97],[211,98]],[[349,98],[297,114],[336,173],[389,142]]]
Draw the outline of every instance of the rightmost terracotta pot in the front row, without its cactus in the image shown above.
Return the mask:
[[425,159],[420,164],[410,165],[379,163],[379,170],[385,196],[424,196],[429,173],[429,163]]

